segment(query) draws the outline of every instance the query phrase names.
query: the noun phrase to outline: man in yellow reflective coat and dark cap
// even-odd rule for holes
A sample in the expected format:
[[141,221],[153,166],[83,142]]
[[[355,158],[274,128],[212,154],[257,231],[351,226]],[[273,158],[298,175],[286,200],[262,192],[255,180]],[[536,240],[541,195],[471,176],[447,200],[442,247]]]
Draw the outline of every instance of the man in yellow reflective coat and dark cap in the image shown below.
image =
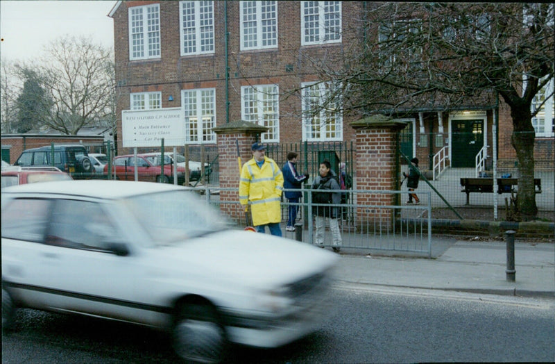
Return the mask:
[[239,181],[239,202],[250,206],[253,225],[259,233],[266,226],[272,235],[282,236],[280,222],[283,174],[273,159],[266,157],[266,146],[261,143],[252,145],[253,159],[243,165]]

